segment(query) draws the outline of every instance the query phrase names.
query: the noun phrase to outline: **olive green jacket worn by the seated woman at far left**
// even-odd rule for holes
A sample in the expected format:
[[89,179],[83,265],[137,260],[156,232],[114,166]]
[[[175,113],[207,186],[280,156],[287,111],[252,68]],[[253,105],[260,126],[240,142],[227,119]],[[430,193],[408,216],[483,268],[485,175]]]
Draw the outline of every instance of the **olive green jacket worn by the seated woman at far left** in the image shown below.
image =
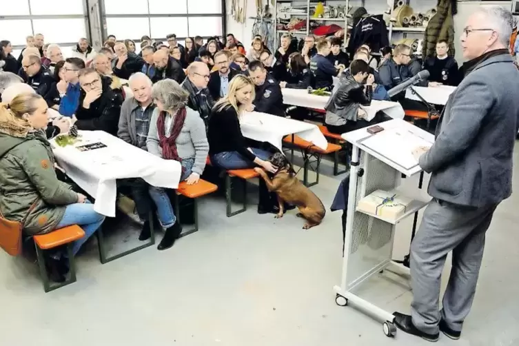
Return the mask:
[[77,202],[77,194],[57,179],[45,132],[0,119],[0,157],[0,210],[4,218],[21,222],[27,216],[23,231],[29,235],[54,230],[65,206]]

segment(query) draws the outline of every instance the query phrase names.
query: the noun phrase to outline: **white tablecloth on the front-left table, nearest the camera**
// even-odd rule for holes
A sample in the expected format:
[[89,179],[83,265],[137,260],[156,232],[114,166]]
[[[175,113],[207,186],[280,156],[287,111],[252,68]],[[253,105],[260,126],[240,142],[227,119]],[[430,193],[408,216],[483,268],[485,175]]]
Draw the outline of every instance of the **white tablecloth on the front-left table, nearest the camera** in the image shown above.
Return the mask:
[[[181,165],[163,160],[103,131],[80,131],[81,140],[60,147],[51,141],[54,156],[70,178],[96,199],[94,210],[115,216],[116,179],[142,178],[150,185],[176,189]],[[80,145],[101,142],[106,147],[81,152]]]

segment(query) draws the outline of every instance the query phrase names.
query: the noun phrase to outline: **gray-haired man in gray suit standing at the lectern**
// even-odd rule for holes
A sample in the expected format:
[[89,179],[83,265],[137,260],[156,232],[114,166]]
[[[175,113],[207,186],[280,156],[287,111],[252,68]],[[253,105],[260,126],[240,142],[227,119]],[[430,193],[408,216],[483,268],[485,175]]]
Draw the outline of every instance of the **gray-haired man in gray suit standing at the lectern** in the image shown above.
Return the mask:
[[[511,194],[512,152],[519,116],[519,72],[508,45],[513,19],[500,7],[480,8],[461,35],[465,79],[449,96],[427,151],[414,150],[431,172],[434,197],[411,244],[411,316],[395,312],[404,332],[436,341],[460,338],[469,314],[498,204]],[[440,280],[452,251],[449,283],[438,310]]]

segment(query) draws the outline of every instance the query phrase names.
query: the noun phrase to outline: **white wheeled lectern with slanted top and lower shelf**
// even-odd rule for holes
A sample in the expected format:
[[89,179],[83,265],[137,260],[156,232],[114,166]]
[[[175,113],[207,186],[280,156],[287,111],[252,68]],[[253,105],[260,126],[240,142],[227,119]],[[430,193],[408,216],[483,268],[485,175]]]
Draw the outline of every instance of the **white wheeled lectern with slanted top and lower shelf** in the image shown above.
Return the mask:
[[[391,261],[395,225],[425,207],[430,197],[414,199],[405,214],[396,220],[385,219],[375,214],[366,214],[357,209],[358,201],[376,190],[396,190],[402,176],[421,172],[411,151],[421,145],[431,146],[434,136],[401,119],[378,124],[383,131],[370,134],[367,128],[343,134],[352,143],[352,165],[349,176],[345,251],[343,276],[340,286],[335,286],[336,303],[347,305],[348,301],[383,323],[387,336],[396,334],[394,316],[369,303],[354,292],[358,285],[378,275],[389,265],[409,275],[409,269]],[[417,188],[418,192],[418,188]],[[418,194],[418,193],[417,193]],[[428,195],[427,195],[428,196]],[[409,196],[414,197],[414,196]]]

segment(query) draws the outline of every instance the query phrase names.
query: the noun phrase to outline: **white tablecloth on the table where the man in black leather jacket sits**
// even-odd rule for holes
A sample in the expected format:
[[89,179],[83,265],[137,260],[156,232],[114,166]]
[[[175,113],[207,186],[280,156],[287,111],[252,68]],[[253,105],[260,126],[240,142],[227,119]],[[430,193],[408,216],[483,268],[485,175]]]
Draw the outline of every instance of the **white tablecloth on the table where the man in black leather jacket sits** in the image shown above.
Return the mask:
[[[305,89],[283,88],[281,92],[283,92],[283,103],[285,105],[297,105],[314,110],[324,110],[329,100],[329,96],[308,94],[308,91]],[[368,120],[373,119],[379,110],[393,119],[404,119],[404,110],[398,102],[372,100],[372,105],[363,108],[368,114]]]

